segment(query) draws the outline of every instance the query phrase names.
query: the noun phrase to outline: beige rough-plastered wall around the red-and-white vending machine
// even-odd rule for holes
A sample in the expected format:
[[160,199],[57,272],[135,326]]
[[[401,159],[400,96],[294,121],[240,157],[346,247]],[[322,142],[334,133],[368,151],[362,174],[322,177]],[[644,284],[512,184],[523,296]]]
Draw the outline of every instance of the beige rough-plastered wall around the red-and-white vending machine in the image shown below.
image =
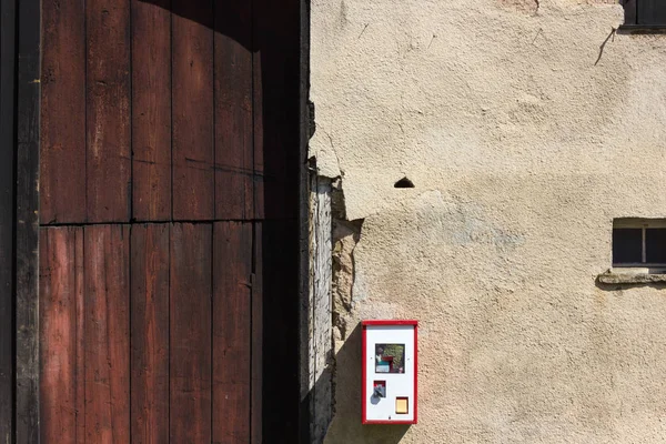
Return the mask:
[[[364,219],[337,245],[355,280],[326,443],[666,442],[666,290],[595,284],[613,218],[666,216],[666,36],[597,62],[622,20],[602,0],[312,1],[311,150]],[[421,321],[412,427],[361,425],[356,325],[377,317]]]

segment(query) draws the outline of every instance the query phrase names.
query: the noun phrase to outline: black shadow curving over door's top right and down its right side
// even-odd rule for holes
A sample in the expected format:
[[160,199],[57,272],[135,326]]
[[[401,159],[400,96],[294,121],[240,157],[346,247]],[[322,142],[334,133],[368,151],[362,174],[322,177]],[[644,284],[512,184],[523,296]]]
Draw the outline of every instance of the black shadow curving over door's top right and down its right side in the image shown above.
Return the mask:
[[[255,208],[261,209],[254,221],[263,225],[260,240],[264,313],[263,441],[296,443],[301,427],[299,349],[295,345],[299,342],[300,258],[300,0],[140,1],[205,27],[212,31],[206,38],[232,40],[251,52],[252,68],[245,74],[253,78],[254,98],[244,105],[253,110],[253,157],[255,163],[261,164],[261,171],[253,172],[253,181]],[[193,47],[201,50],[199,42]],[[235,67],[235,58],[243,50],[232,47],[235,48],[233,53],[229,48],[226,52],[214,53],[221,53]],[[211,69],[213,62],[211,60]],[[216,117],[215,124],[225,122]],[[239,131],[243,130],[246,129]]]

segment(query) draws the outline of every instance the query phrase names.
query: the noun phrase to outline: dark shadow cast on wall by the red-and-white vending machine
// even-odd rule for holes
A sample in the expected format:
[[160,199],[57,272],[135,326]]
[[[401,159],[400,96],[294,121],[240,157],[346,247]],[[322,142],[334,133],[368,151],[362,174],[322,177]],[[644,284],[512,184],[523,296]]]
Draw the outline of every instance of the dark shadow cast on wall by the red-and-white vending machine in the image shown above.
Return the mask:
[[359,323],[335,356],[335,413],[324,443],[400,443],[410,425],[361,424],[361,341]]

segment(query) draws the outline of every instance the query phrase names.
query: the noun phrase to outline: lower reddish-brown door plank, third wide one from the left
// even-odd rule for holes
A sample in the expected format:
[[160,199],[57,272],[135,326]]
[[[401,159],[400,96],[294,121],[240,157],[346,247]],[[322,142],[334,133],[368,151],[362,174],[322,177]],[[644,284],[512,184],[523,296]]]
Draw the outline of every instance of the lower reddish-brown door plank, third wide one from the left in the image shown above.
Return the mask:
[[169,442],[169,224],[132,226],[132,442]]

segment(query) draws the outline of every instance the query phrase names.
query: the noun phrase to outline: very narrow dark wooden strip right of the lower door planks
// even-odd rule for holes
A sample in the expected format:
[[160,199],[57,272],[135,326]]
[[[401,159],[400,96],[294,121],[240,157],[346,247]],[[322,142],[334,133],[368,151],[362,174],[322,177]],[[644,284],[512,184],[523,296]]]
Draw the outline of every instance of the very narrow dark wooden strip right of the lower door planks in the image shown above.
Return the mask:
[[252,444],[263,443],[263,248],[262,222],[252,224],[252,385],[250,387]]

